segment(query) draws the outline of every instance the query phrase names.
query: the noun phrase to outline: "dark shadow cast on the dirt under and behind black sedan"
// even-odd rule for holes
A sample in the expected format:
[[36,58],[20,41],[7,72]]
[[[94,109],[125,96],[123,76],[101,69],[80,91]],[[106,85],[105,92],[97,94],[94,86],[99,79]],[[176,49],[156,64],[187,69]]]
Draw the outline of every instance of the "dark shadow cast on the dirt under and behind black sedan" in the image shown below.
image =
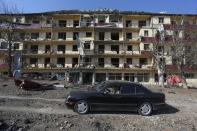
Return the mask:
[[[166,106],[160,110],[153,111],[152,116],[161,114],[174,114],[179,112],[179,109],[166,104]],[[90,114],[128,114],[137,115],[137,111],[91,111]]]

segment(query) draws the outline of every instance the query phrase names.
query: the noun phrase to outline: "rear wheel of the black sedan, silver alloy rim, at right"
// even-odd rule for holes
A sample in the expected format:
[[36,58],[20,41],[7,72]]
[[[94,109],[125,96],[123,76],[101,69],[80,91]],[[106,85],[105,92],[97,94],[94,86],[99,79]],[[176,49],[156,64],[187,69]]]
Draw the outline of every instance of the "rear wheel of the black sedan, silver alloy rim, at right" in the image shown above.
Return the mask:
[[143,102],[138,108],[138,113],[142,116],[149,116],[152,113],[152,105],[149,102]]

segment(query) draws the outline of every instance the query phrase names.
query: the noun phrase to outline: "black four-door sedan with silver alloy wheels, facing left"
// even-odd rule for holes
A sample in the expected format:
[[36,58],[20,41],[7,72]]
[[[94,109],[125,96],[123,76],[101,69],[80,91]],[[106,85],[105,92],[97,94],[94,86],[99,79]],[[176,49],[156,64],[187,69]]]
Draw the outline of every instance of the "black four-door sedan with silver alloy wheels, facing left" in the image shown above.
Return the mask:
[[143,116],[165,106],[165,95],[127,81],[105,81],[91,91],[70,92],[66,106],[79,114],[89,111],[137,111]]

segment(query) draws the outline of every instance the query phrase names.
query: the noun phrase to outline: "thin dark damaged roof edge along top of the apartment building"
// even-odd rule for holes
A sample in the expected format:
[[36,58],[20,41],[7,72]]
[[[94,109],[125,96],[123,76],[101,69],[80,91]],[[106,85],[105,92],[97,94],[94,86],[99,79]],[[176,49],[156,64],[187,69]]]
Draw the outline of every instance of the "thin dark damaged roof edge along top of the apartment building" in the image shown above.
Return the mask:
[[[52,15],[52,14],[120,14],[120,15],[151,15],[151,16],[197,16],[197,14],[171,14],[171,13],[155,13],[155,12],[144,12],[144,11],[119,11],[119,10],[59,10],[59,11],[48,11],[39,13],[20,13],[12,15]],[[6,15],[1,13],[0,15]]]

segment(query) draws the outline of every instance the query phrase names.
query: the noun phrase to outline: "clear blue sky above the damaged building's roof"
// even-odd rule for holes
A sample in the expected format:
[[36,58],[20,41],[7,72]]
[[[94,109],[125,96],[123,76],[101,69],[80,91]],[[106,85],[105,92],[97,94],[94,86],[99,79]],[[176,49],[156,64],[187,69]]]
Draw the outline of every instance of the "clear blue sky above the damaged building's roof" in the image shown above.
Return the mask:
[[24,13],[111,8],[126,11],[197,14],[197,0],[0,0]]

